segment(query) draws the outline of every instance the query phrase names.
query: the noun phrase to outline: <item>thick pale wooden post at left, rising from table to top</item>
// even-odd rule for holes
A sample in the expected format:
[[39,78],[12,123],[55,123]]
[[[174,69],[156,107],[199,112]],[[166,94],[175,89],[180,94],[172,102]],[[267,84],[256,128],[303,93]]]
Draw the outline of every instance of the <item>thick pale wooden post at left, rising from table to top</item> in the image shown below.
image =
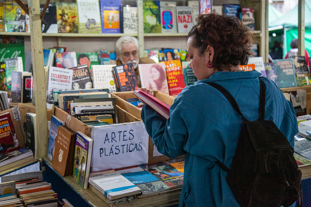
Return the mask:
[[28,0],[30,41],[32,65],[34,73],[34,94],[36,107],[37,134],[37,157],[43,158],[48,152],[48,119],[46,114],[46,86],[45,70],[43,61],[42,28],[39,0]]

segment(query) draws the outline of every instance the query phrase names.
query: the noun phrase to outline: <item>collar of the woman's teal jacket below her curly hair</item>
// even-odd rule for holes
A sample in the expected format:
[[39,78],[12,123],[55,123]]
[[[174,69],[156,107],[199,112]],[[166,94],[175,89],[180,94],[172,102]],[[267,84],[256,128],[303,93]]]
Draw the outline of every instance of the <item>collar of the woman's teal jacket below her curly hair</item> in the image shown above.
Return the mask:
[[256,70],[253,71],[241,71],[241,72],[233,72],[233,71],[219,71],[212,74],[208,79],[203,79],[195,82],[193,85],[197,83],[206,83],[206,82],[215,82],[222,80],[235,80],[235,79],[247,79],[247,78],[257,78],[261,76],[261,73]]

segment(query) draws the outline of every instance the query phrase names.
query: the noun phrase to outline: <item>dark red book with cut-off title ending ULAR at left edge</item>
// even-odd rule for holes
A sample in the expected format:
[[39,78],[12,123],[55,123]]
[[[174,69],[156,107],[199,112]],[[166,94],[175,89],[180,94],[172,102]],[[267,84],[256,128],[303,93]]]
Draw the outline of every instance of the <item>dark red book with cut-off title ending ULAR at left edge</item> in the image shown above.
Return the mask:
[[[0,115],[0,144],[14,144],[13,136],[16,137],[15,129],[9,112]],[[4,147],[5,148],[5,147]]]

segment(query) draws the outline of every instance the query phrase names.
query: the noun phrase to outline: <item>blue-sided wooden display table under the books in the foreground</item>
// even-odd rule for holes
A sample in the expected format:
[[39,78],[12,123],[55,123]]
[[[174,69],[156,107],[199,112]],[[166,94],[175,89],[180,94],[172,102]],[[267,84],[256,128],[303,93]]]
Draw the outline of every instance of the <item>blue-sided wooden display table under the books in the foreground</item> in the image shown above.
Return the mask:
[[96,195],[90,188],[82,189],[72,176],[63,177],[52,168],[52,161],[48,157],[42,159],[42,171],[44,181],[52,184],[53,190],[57,192],[58,199],[66,198],[75,207],[140,207],[140,206],[171,206],[179,203],[180,189],[162,191],[143,196],[137,196],[131,202],[109,203],[110,200],[103,195]]

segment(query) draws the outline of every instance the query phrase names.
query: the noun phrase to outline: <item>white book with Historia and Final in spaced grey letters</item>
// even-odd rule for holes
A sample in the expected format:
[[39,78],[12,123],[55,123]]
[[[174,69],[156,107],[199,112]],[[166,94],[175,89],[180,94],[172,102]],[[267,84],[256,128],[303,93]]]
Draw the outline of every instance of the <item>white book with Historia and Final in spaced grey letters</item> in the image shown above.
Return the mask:
[[92,65],[94,88],[109,88],[110,92],[116,92],[112,67],[116,65]]

